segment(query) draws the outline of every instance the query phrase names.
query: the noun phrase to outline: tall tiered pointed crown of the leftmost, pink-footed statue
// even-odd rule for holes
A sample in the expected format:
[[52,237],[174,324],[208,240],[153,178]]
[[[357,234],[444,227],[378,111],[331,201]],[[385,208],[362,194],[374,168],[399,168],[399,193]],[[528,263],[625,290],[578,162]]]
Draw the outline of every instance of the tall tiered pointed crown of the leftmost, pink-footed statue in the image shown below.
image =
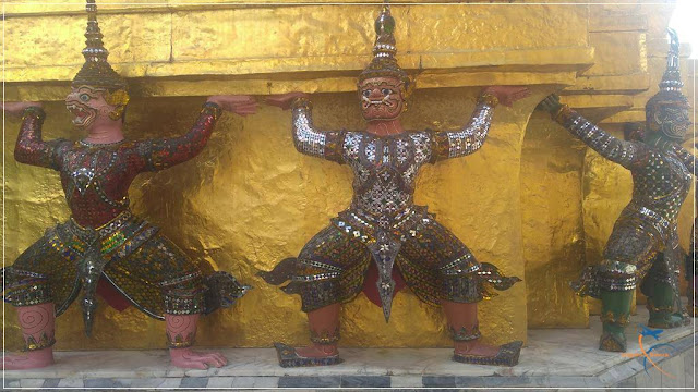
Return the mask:
[[127,82],[109,65],[109,51],[105,48],[97,22],[97,4],[95,0],[86,0],[87,28],[85,29],[85,63],[73,78],[72,86],[91,86],[110,90],[125,89]]

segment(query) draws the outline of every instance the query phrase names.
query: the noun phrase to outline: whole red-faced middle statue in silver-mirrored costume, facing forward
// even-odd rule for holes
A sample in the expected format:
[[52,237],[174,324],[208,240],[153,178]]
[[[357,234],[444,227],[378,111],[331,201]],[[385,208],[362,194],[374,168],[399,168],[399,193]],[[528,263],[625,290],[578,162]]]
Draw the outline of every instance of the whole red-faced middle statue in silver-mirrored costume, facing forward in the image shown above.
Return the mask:
[[[300,294],[308,313],[309,347],[277,343],[281,366],[332,365],[340,362],[339,308],[363,287],[378,304],[386,322],[393,297],[407,285],[425,303],[443,305],[455,341],[455,360],[513,366],[521,342],[491,346],[479,341],[477,303],[506,290],[507,278],[493,265],[480,262],[426,207],[413,201],[420,168],[476,152],[484,143],[500,100],[510,105],[528,95],[520,87],[489,87],[478,98],[470,122],[456,132],[407,132],[399,117],[407,110],[414,82],[398,65],[395,20],[384,5],[375,21],[373,59],[359,76],[364,132],[320,131],[312,103],[302,93],[267,98],[291,109],[296,148],[353,170],[351,206],[303,247],[261,275],[282,290]],[[372,272],[374,271],[374,272]],[[366,277],[375,282],[364,285]]]

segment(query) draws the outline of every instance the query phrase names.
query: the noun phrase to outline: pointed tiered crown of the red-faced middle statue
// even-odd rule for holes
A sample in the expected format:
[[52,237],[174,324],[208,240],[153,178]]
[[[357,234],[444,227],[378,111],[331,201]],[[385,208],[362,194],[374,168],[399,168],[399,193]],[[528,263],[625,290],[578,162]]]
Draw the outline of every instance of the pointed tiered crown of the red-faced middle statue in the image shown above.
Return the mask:
[[375,20],[375,44],[373,45],[373,60],[361,72],[359,82],[370,77],[393,76],[409,83],[407,73],[398,65],[395,54],[395,19],[390,15],[390,5],[383,4],[383,9]]

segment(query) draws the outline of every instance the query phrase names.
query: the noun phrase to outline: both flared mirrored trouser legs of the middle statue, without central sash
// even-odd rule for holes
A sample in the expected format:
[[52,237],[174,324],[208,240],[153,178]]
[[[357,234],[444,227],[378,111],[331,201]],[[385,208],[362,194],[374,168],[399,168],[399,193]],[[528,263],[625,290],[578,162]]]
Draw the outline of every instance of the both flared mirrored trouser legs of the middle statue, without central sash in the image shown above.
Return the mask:
[[[335,303],[351,301],[363,286],[370,264],[375,257],[372,233],[347,230],[346,212],[317,233],[298,258],[279,262],[261,275],[286,293],[300,294],[302,310],[311,311]],[[418,215],[414,224],[392,233],[400,242],[395,266],[407,285],[423,302],[474,303],[496,295],[492,289],[506,290],[520,281],[504,277],[490,264],[480,264],[450,231],[426,213]]]

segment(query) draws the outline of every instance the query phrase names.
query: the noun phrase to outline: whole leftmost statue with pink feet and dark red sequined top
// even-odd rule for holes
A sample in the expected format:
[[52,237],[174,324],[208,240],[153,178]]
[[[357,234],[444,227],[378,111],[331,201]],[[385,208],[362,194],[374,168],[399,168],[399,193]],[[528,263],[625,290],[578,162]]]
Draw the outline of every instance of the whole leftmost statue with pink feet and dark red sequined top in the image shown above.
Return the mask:
[[[205,147],[222,109],[254,112],[250,97],[210,97],[189,133],[180,137],[128,142],[121,127],[129,103],[127,83],[107,62],[97,7],[87,0],[85,63],[75,75],[65,106],[73,124],[87,132],[82,142],[44,140],[46,114],[35,102],[5,103],[25,108],[14,150],[20,162],[60,173],[68,222],[46,231],[15,262],[3,269],[4,299],[16,307],[26,341],[25,355],[4,356],[5,369],[52,364],[55,317],[75,299],[91,335],[97,294],[119,308],[133,305],[165,320],[172,364],[179,367],[224,366],[218,353],[191,351],[201,314],[232,305],[243,286],[227,272],[204,271],[163,235],[133,215],[129,186],[147,171],[194,158]],[[124,305],[125,304],[125,305]]]

